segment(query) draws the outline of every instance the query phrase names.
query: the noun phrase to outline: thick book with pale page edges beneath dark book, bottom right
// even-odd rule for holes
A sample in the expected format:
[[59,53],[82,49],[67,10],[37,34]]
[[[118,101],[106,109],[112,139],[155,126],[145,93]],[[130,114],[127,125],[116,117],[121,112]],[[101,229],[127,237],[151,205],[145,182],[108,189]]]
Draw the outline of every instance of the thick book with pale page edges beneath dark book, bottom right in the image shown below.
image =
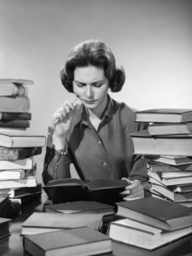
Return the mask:
[[147,250],[165,246],[191,233],[192,228],[190,226],[179,230],[163,231],[129,218],[111,222],[108,229],[108,235],[114,241],[142,247]]

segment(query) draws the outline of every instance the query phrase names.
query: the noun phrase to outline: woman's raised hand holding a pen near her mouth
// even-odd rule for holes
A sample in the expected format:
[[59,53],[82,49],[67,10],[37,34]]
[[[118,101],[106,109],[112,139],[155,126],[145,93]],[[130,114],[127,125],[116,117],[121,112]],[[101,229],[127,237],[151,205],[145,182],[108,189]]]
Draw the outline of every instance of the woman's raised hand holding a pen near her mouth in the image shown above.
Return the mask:
[[73,106],[72,102],[64,102],[52,115],[52,127],[55,137],[67,138],[72,129],[72,122],[79,119],[81,105]]

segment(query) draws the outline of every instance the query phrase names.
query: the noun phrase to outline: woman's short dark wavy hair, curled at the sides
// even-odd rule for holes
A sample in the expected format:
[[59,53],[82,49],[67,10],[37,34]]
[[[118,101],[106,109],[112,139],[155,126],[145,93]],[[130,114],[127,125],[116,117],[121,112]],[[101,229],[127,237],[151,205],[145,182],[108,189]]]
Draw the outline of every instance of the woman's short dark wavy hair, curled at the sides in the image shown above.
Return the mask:
[[61,68],[61,83],[69,92],[73,92],[75,68],[89,65],[103,68],[111,91],[117,92],[122,89],[125,83],[125,71],[123,67],[116,67],[111,49],[100,40],[88,40],[76,45],[70,51],[64,67]]

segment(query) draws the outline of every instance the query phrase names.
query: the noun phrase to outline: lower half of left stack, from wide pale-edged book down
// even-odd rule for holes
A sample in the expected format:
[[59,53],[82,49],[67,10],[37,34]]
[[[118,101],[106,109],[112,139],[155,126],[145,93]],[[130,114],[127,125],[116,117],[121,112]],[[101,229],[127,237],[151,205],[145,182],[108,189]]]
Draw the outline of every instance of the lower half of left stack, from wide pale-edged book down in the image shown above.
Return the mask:
[[44,136],[26,131],[0,132],[0,194],[9,194],[12,201],[25,201],[25,195],[40,197],[32,156],[41,154],[45,142]]

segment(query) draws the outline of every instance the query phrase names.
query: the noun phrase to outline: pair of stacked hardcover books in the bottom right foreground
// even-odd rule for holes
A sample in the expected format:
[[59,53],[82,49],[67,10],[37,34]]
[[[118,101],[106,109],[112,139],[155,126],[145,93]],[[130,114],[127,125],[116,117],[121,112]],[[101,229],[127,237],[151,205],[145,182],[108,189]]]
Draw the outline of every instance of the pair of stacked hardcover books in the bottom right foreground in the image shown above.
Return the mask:
[[119,219],[108,228],[108,235],[114,241],[164,252],[158,255],[176,255],[171,253],[172,249],[177,248],[177,243],[185,243],[186,237],[190,244],[192,212],[188,207],[152,196],[117,202],[117,207]]

